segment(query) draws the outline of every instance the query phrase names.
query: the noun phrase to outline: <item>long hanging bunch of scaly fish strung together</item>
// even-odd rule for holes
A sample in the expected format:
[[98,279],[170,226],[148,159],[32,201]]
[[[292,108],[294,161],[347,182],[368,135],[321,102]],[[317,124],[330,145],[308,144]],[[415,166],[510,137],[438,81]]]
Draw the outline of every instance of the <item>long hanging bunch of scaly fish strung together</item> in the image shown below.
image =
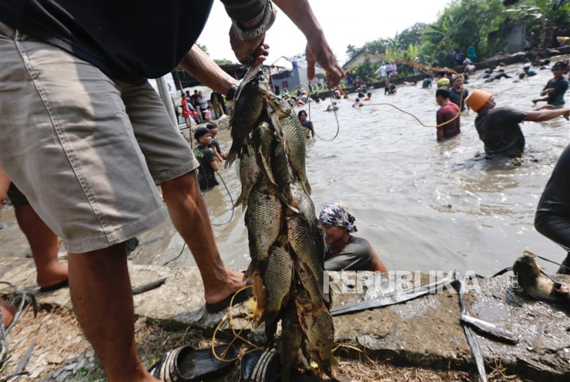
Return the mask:
[[[265,325],[288,380],[291,367],[333,376],[334,328],[324,290],[325,243],[310,199],[305,170],[306,135],[288,102],[255,67],[242,80],[231,115],[232,144],[226,168],[239,159],[253,281],[254,327]],[[275,340],[282,324],[280,341]]]

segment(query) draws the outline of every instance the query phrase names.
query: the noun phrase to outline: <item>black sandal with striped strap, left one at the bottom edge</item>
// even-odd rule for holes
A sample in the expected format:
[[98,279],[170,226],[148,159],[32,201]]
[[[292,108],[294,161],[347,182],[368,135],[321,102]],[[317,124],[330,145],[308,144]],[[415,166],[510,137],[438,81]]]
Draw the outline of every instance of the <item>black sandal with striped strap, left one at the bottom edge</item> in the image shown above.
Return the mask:
[[[226,348],[227,345],[218,345],[214,350],[220,355]],[[166,352],[149,372],[152,377],[164,382],[202,381],[228,372],[235,363],[237,354],[236,348],[230,346],[223,357],[228,361],[220,361],[212,354],[212,348],[181,346]]]

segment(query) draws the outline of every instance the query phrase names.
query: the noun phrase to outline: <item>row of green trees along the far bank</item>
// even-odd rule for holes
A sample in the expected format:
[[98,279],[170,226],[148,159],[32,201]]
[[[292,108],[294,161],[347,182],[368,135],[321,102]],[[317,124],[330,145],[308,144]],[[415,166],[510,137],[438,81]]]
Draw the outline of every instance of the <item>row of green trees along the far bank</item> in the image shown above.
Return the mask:
[[[498,45],[488,41],[490,32],[518,23],[525,23],[527,35],[535,36],[534,46],[556,47],[556,36],[570,36],[570,0],[522,0],[510,8],[502,0],[451,0],[435,23],[416,23],[394,38],[377,38],[362,48],[386,59],[419,56],[422,63],[437,60],[451,65],[446,60],[451,49],[466,54],[472,45],[479,60],[484,60]],[[347,55],[352,58],[362,48],[348,45]]]

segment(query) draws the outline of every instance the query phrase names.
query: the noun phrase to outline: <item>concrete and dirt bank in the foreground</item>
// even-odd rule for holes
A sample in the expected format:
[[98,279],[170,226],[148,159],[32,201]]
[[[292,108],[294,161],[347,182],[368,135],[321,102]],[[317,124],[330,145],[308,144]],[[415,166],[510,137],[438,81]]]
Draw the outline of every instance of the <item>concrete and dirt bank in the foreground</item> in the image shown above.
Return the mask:
[[[0,279],[19,289],[36,292],[30,259],[0,259]],[[129,266],[131,284],[139,286],[166,278],[166,282],[135,295],[135,330],[144,365],[150,367],[163,352],[181,345],[207,347],[225,313],[205,311],[203,285],[195,267],[170,269]],[[419,281],[419,280],[418,280]],[[421,281],[425,283],[425,278]],[[10,288],[0,287],[2,295]],[[350,291],[335,295],[335,306],[357,297]],[[516,334],[517,344],[504,344],[477,335],[490,381],[567,381],[570,377],[568,306],[529,299],[512,288],[509,278],[481,280],[466,294],[468,311]],[[69,289],[38,296],[39,315],[32,309],[8,335],[10,348],[0,378],[14,372],[34,344],[21,381],[102,381],[99,363],[71,312]],[[251,312],[240,304],[235,311]],[[242,319],[242,337],[255,341],[259,331]],[[457,294],[443,288],[401,304],[334,315],[335,355],[341,362],[339,378],[351,381],[472,381],[475,362],[459,323]],[[262,328],[260,329],[262,332]],[[216,339],[230,341],[229,327]],[[236,381],[239,361],[218,381]]]

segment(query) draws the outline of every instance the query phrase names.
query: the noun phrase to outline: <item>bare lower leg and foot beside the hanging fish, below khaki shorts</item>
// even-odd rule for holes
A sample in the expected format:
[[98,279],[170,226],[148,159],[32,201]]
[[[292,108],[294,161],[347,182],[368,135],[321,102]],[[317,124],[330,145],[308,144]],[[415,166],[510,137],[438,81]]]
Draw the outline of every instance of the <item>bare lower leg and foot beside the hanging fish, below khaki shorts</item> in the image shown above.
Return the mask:
[[243,273],[220,258],[196,170],[161,184],[172,223],[190,247],[204,283],[205,300],[216,304],[244,287]]

